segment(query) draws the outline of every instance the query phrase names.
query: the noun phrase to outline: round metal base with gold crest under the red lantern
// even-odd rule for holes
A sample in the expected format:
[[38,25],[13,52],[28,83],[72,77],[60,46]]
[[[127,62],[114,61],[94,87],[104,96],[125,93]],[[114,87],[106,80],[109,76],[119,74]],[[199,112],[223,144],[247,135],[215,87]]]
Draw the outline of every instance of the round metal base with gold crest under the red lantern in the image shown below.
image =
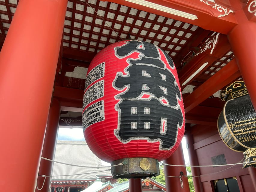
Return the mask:
[[123,165],[111,167],[114,179],[117,178],[146,178],[158,176],[158,160],[152,158],[124,158],[113,161],[111,166],[123,163]]

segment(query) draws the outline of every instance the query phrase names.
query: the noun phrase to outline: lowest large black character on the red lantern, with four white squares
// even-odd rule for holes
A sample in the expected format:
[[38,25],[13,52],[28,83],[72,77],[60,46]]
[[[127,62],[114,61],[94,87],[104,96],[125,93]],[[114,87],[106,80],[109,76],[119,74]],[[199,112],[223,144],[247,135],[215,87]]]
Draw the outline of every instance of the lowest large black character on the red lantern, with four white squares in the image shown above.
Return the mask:
[[[123,142],[134,138],[160,141],[168,149],[176,142],[183,116],[180,108],[162,105],[158,100],[123,100],[119,104],[120,121],[118,136]],[[161,113],[159,113],[161,111]]]

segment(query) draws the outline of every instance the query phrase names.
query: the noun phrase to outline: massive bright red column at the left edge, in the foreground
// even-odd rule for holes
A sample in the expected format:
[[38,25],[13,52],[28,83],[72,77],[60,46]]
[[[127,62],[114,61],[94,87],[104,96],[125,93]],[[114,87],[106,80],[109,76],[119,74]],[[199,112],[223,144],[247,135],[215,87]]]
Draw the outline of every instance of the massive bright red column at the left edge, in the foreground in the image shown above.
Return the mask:
[[19,1],[0,52],[2,191],[35,191],[67,1]]

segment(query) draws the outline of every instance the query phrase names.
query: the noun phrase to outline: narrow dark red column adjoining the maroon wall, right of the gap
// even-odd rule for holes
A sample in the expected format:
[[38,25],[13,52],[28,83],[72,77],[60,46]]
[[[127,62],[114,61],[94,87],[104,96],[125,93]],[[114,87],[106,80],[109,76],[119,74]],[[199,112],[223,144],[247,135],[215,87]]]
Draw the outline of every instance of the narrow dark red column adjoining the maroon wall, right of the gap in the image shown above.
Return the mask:
[[[188,157],[191,165],[199,165],[196,151],[194,149],[194,140],[190,132],[186,135],[188,143]],[[199,167],[191,167],[192,176],[200,176]],[[193,177],[194,188],[196,192],[203,192],[203,185],[200,181],[200,177]]]

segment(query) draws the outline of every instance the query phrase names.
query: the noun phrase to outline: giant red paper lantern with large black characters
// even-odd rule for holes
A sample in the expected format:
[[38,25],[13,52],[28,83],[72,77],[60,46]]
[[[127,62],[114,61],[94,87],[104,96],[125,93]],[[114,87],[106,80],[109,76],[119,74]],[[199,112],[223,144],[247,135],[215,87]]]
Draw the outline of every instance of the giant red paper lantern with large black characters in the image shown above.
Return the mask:
[[149,173],[153,164],[173,154],[184,135],[180,90],[175,65],[162,49],[137,40],[107,46],[92,60],[86,77],[83,129],[88,146],[104,161],[130,168],[139,162],[142,172]]

